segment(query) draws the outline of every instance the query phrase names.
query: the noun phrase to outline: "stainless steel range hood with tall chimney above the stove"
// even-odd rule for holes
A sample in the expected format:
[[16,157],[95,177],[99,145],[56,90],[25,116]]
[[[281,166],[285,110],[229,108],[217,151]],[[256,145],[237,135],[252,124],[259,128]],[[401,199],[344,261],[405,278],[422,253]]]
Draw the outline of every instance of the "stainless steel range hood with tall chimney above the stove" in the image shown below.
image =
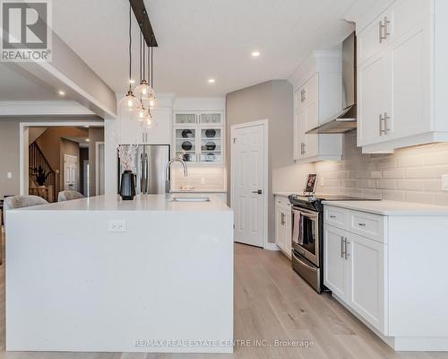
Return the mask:
[[306,134],[342,134],[357,127],[357,39],[342,42],[342,110]]

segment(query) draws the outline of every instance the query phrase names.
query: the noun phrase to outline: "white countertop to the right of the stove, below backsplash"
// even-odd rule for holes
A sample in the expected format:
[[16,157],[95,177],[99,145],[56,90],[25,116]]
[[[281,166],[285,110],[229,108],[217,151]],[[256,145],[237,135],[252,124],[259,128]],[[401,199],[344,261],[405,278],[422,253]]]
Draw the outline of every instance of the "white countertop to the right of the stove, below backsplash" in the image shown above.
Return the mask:
[[426,205],[400,201],[323,201],[323,205],[337,206],[376,215],[447,215],[448,206]]

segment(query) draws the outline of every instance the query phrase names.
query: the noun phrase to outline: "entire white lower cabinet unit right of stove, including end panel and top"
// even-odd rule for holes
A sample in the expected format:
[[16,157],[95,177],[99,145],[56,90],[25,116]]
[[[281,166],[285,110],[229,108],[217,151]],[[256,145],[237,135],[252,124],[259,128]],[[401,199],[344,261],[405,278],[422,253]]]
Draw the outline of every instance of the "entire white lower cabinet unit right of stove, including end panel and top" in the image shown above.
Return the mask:
[[393,349],[447,351],[448,214],[401,206],[324,204],[323,284]]

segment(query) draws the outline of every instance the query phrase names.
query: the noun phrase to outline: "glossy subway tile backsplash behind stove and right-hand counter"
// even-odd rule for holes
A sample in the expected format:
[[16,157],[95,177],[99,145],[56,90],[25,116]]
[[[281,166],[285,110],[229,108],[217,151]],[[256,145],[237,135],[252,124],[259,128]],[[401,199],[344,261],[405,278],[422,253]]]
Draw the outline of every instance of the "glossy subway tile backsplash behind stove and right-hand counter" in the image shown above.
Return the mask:
[[448,174],[448,144],[363,154],[356,132],[344,136],[344,161],[316,162],[317,191],[448,206],[441,176]]

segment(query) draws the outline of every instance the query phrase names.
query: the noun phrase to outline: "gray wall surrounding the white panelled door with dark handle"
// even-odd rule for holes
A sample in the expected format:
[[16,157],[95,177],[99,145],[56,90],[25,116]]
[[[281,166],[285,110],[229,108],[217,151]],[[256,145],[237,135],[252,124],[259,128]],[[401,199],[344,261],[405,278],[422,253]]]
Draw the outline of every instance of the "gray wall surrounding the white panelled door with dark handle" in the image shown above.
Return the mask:
[[[259,83],[246,89],[230,92],[226,98],[227,172],[230,184],[230,127],[259,119],[269,121],[268,158],[268,241],[275,241],[274,198],[272,171],[293,163],[292,156],[292,85],[286,80]],[[230,191],[228,191],[230,203]]]

